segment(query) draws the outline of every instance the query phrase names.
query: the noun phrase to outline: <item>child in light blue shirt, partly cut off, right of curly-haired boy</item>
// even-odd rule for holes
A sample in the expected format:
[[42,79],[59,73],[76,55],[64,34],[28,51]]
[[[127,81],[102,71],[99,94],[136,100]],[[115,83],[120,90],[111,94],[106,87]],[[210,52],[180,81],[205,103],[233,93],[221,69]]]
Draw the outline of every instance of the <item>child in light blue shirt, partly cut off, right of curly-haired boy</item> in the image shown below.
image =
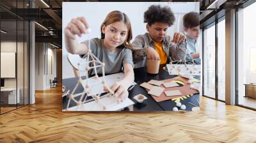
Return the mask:
[[200,32],[199,13],[189,12],[183,17],[183,26],[187,40],[187,61],[194,59],[196,64],[200,64],[200,55],[198,53],[197,38]]

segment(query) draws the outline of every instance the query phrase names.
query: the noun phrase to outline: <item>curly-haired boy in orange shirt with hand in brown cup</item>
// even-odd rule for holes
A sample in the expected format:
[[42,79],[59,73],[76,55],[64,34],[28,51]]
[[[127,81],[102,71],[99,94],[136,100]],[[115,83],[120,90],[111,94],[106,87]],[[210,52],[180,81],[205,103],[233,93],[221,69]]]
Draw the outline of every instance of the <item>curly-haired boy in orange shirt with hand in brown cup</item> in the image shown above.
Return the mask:
[[[145,67],[147,59],[160,59],[160,64],[168,61],[179,61],[186,56],[186,46],[175,48],[171,42],[177,45],[185,43],[182,33],[174,33],[173,39],[167,35],[168,27],[173,25],[175,16],[168,6],[152,5],[144,13],[144,22],[147,23],[147,33],[136,36],[132,42],[134,47],[134,68]],[[170,57],[170,59],[169,59]]]

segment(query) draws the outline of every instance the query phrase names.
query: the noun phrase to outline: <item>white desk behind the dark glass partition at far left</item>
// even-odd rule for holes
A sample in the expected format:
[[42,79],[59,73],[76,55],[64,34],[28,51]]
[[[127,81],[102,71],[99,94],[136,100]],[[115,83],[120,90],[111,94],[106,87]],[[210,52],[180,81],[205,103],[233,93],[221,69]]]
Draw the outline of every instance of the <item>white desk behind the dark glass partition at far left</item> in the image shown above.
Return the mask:
[[8,94],[8,104],[16,104],[20,103],[20,89],[17,88],[17,98],[16,98],[16,88],[3,88],[1,89],[1,93],[9,93]]

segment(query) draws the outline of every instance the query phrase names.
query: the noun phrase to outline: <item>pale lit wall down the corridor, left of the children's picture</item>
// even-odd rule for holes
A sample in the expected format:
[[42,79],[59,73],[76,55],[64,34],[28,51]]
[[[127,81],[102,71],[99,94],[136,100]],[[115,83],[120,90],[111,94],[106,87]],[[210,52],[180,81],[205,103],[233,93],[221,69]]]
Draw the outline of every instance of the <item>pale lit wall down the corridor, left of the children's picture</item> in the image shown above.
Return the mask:
[[[56,77],[56,49],[49,43],[36,43],[35,47],[35,90],[49,89],[50,79]],[[49,67],[52,67],[52,73]]]

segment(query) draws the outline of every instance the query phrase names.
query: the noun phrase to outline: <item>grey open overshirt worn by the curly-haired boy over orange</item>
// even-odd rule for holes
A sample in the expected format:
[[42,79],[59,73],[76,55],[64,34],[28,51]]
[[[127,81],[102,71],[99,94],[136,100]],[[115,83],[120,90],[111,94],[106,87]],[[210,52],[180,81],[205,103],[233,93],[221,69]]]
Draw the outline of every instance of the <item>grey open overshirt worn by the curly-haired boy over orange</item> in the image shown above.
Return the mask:
[[[152,47],[156,49],[154,40],[149,36],[148,33],[140,34],[136,36],[132,42],[134,48],[133,52],[133,62],[134,68],[140,68],[146,66],[146,56],[147,56],[147,47]],[[186,40],[183,40],[179,44],[179,48],[171,45],[170,36],[166,36],[163,40],[163,50],[170,61],[179,61],[186,57]]]

